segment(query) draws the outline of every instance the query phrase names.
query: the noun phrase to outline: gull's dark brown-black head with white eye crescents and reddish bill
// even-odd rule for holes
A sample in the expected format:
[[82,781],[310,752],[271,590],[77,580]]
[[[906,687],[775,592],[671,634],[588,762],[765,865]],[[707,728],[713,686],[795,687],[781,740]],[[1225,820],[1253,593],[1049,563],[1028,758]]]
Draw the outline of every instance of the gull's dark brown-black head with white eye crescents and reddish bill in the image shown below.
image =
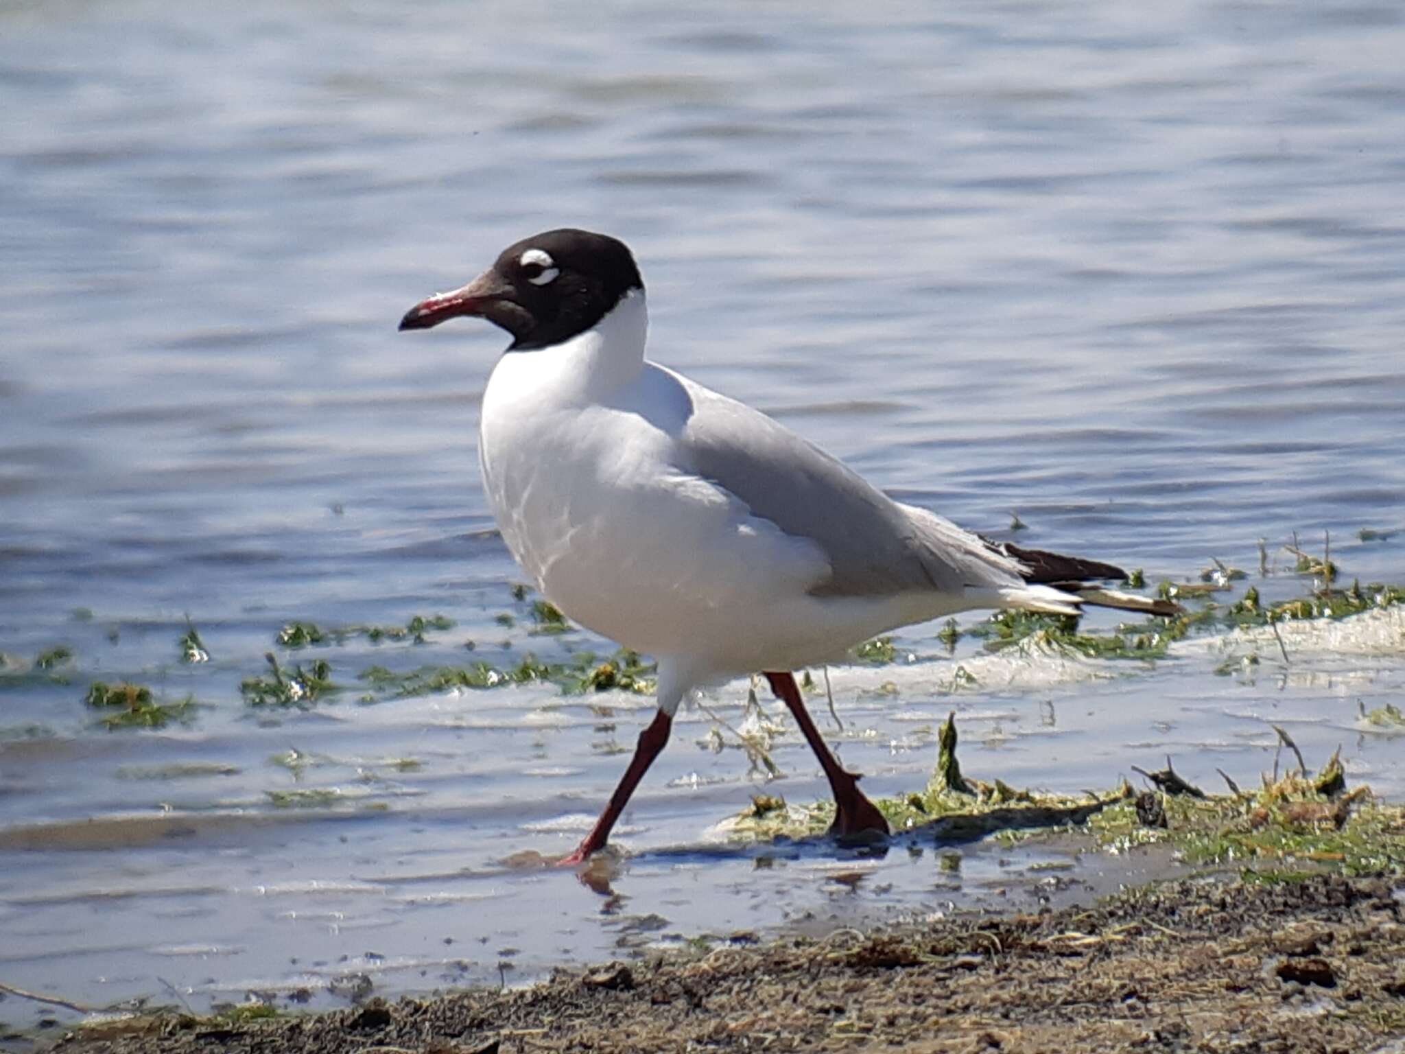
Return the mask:
[[643,289],[643,280],[624,242],[570,228],[544,230],[507,246],[468,285],[416,304],[400,329],[476,315],[513,334],[509,351],[532,351],[590,329],[632,289]]

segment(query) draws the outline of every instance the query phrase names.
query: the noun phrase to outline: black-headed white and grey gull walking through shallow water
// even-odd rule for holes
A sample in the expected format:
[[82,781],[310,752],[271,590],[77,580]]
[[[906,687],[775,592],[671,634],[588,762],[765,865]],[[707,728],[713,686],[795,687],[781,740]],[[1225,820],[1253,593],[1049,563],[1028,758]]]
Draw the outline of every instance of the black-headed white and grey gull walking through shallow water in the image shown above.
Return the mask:
[[562,863],[606,845],[697,687],[764,673],[829,779],[832,833],[887,832],[791,670],[971,609],[1163,606],[1094,585],[1125,578],[1109,564],[998,545],[895,502],[764,413],[645,358],[643,281],[614,238],[527,238],[400,329],[458,315],[513,339],[483,392],[478,447],[503,541],[566,616],[659,663],[658,714]]

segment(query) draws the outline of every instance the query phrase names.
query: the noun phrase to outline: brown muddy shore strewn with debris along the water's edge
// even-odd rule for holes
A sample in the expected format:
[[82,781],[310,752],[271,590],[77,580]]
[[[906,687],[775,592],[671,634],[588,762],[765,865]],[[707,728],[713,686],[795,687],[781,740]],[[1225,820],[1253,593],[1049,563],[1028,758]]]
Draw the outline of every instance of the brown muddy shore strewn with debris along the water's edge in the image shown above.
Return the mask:
[[558,971],[263,1020],[164,1013],[63,1054],[1397,1051],[1405,878],[1182,878],[1097,904]]

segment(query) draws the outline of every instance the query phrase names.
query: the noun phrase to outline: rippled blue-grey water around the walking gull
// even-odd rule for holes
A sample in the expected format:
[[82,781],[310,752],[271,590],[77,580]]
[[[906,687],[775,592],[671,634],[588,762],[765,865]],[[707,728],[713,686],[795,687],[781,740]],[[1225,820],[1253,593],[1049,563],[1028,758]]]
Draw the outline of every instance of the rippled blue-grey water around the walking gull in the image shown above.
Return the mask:
[[[334,1001],[361,972],[513,981],[1037,887],[1059,850],[964,846],[953,874],[934,846],[718,847],[759,786],[694,713],[603,898],[503,861],[575,843],[646,698],[268,714],[239,683],[292,618],[455,621],[281,652],[350,684],[607,648],[530,637],[511,594],[475,451],[503,337],[393,332],[562,223],[635,249],[658,358],[906,500],[993,533],[1017,510],[1026,544],[1149,580],[1255,569],[1259,538],[1283,568],[1324,530],[1346,575],[1401,580],[1401,535],[1356,531],[1405,526],[1402,49],[1402,13],[1359,3],[0,6],[0,980]],[[180,662],[190,623],[209,663]],[[951,696],[985,661],[932,630],[902,639],[927,662],[836,672],[836,741],[877,793],[924,780],[950,708],[967,769],[1012,783],[1110,786],[1166,753],[1252,779],[1293,722],[1405,793],[1405,741],[1356,724],[1398,700],[1398,632],[1288,669],[1266,651],[1255,679],[1189,651],[1110,680],[992,666]],[[69,683],[24,672],[56,645]],[[94,677],[208,708],[107,732]],[[735,724],[743,697],[710,705]],[[792,732],[776,759],[769,790],[822,793]]]

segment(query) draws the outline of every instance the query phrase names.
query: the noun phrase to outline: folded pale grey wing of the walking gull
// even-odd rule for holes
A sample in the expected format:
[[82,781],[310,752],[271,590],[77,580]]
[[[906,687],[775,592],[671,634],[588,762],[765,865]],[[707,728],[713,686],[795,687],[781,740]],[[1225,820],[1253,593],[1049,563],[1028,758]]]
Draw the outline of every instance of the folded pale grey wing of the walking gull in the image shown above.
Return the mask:
[[[816,596],[960,593],[1020,585],[1017,565],[941,517],[899,505],[837,458],[766,415],[686,378],[693,412],[681,465],[753,516],[819,545],[830,576]],[[969,538],[971,544],[967,544]]]

